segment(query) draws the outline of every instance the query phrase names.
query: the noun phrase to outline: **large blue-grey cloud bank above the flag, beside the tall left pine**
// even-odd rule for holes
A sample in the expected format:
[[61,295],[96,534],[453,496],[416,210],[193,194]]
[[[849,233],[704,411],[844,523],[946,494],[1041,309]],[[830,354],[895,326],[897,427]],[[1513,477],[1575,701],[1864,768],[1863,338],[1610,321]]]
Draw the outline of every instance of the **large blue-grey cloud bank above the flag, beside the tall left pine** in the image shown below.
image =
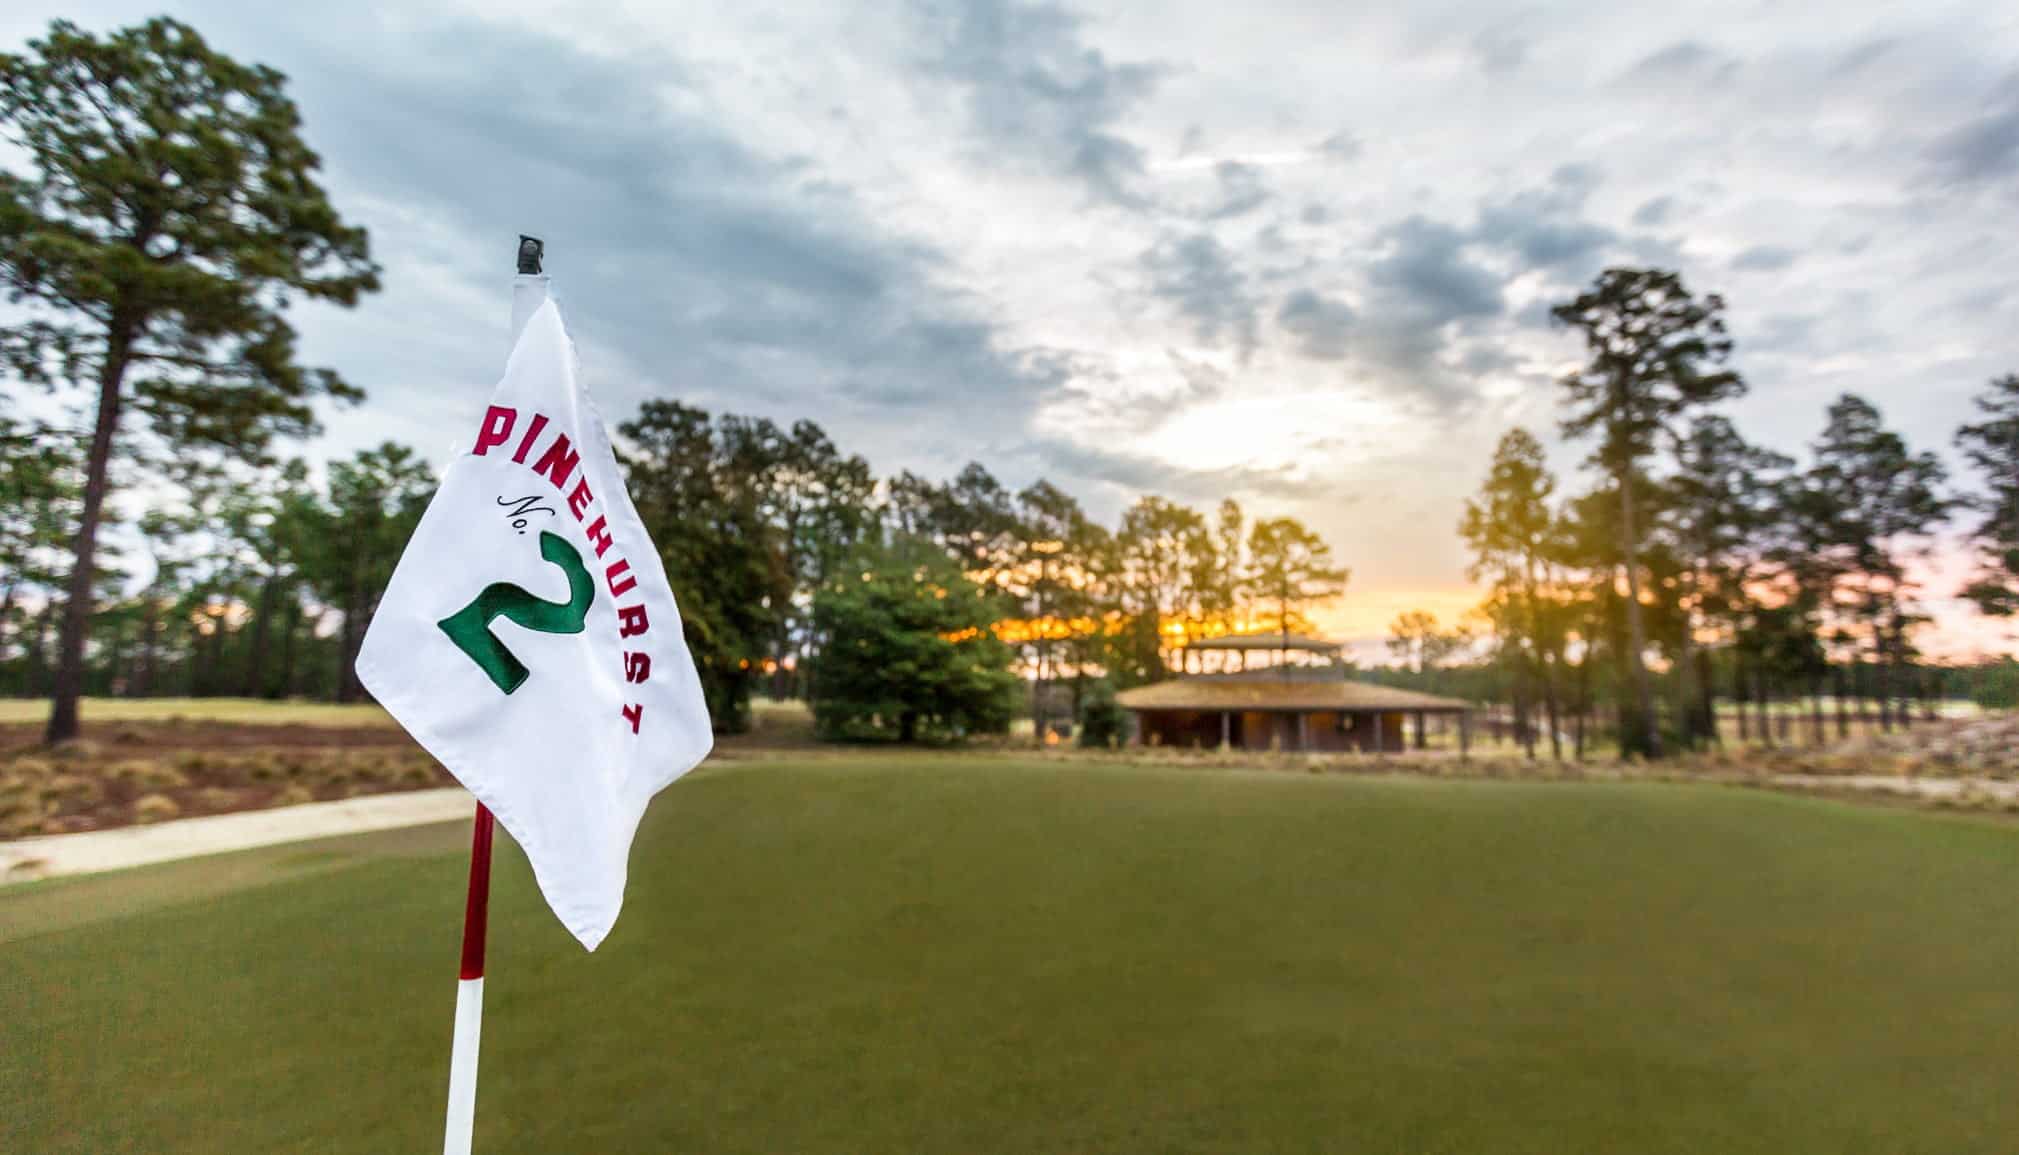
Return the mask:
[[[343,368],[378,412],[430,408],[495,380],[503,305],[448,321],[406,313],[402,295],[414,293],[416,265],[434,265],[468,279],[436,285],[442,301],[481,301],[495,285],[503,303],[517,232],[547,238],[614,420],[646,396],[781,418],[832,398],[818,416],[838,440],[876,436],[902,408],[907,438],[925,442],[975,414],[1018,426],[1060,382],[1040,351],[1012,347],[979,303],[943,283],[947,254],[872,220],[850,190],[808,180],[800,162],[684,111],[695,103],[670,99],[684,79],[664,59],[590,57],[497,24],[378,24],[351,10],[313,28],[262,10],[246,18],[262,40],[256,59],[289,65],[305,107],[341,111],[311,111],[311,139],[349,190],[339,204],[398,206],[367,220],[390,269],[386,301],[337,321],[351,333]],[[418,325],[476,339],[454,359],[402,353],[432,337]],[[434,448],[432,436],[418,440]]]

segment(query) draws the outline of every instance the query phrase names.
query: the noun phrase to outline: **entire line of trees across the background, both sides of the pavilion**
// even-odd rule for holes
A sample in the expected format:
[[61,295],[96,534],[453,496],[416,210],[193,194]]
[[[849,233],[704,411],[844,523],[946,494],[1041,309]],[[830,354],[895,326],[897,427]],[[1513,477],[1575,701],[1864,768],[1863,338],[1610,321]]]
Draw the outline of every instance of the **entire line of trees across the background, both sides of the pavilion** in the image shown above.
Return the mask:
[[[363,396],[299,361],[291,303],[378,289],[285,77],[170,18],[59,20],[0,55],[0,361],[50,394],[0,394],[0,691],[48,695],[50,741],[85,693],[359,699],[351,660],[434,479],[396,444],[321,477],[279,452],[317,402]],[[1752,725],[1801,699],[1821,731],[1825,693],[1839,729],[1866,697],[1892,725],[1930,680],[1914,557],[1967,509],[1967,594],[2019,612],[2019,378],[1956,434],[1975,497],[1853,396],[1797,466],[1718,412],[1744,392],[1722,313],[1660,269],[1555,307],[1587,351],[1561,432],[1589,485],[1565,493],[1510,432],[1460,523],[1484,640],[1407,616],[1375,676],[1506,701],[1559,753],[1601,717],[1629,753],[1716,741],[1720,699]],[[812,422],[654,400],[618,434],[727,729],[767,691],[836,737],[999,729],[1026,703],[1044,733],[1201,670],[1189,640],[1300,628],[1347,582],[1308,527],[1232,501],[1145,497],[1108,527],[979,464],[876,477]]]

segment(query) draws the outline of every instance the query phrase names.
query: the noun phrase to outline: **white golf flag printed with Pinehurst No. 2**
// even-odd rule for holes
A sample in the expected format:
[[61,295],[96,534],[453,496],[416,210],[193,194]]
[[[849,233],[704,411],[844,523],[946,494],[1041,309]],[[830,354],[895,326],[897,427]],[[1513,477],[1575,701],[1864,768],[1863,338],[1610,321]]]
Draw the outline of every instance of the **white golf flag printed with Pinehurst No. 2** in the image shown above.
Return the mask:
[[646,802],[713,743],[701,678],[553,301],[458,446],[357,676],[505,824],[594,951]]

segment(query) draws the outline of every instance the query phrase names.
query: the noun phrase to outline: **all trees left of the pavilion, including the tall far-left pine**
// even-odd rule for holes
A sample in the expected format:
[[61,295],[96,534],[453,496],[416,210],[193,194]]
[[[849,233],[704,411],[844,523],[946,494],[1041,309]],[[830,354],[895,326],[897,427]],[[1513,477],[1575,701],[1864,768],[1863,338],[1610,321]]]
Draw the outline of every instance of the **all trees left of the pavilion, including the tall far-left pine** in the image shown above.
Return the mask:
[[[357,646],[434,481],[398,444],[321,479],[277,452],[317,432],[313,402],[363,398],[297,359],[289,305],[378,289],[285,77],[170,18],[107,36],[57,20],[0,55],[0,125],[22,151],[0,172],[0,355],[63,412],[0,410],[0,691],[48,695],[50,741],[77,735],[85,693],[359,699]],[[814,699],[834,733],[999,727],[1018,654],[1044,725],[1056,680],[1074,711],[1096,670],[1159,678],[1173,640],[1250,610],[1288,624],[1345,582],[1306,527],[1234,503],[1209,521],[1145,499],[1110,531],[979,464],[878,479],[812,422],[648,402],[618,432],[729,729],[759,687]],[[943,606],[864,604],[878,573]],[[919,634],[915,668],[834,652],[890,650],[860,636],[878,620]],[[965,699],[933,699],[935,662]]]

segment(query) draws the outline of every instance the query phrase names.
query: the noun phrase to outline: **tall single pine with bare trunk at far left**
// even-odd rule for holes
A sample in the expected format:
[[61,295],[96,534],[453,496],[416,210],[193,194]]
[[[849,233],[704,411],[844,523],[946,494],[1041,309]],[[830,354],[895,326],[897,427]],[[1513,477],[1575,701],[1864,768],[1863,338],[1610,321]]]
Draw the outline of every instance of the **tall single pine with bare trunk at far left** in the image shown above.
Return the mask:
[[135,424],[176,448],[258,454],[355,398],[295,359],[291,299],[378,287],[339,220],[281,73],[170,18],[99,38],[67,20],[0,55],[0,279],[22,319],[0,349],[26,380],[95,396],[48,741],[77,735],[111,456]]

